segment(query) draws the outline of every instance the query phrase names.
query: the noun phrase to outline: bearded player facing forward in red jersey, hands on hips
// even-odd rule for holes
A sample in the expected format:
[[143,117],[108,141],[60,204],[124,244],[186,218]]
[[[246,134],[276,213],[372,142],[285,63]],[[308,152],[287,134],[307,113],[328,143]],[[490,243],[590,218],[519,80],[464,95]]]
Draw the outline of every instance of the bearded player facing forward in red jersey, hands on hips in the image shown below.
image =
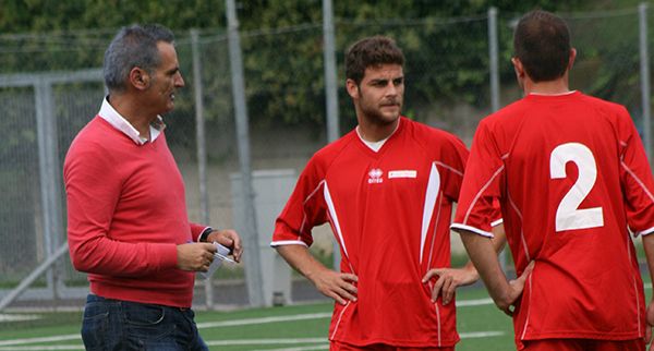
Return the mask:
[[[331,350],[453,350],[451,294],[477,277],[472,266],[447,268],[468,149],[400,116],[403,63],[386,37],[348,50],[346,85],[359,125],[311,158],[276,221],[271,245],[337,302]],[[340,244],[340,271],[307,249],[312,228],[325,222]]]

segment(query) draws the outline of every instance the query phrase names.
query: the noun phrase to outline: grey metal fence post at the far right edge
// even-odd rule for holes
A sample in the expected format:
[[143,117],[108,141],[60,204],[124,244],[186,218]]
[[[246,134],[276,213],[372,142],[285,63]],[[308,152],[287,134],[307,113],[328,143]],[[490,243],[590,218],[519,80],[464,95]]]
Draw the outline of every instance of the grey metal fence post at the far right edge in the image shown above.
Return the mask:
[[643,144],[647,158],[652,160],[652,125],[650,110],[650,53],[647,50],[647,4],[641,2],[638,5],[640,23],[640,78],[641,78],[641,104],[643,108]]

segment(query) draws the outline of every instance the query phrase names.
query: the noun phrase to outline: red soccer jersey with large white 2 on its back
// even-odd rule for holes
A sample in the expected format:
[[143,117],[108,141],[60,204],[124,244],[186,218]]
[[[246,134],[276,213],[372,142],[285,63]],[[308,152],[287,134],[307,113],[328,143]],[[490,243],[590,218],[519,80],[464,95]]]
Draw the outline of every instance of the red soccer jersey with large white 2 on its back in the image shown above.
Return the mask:
[[627,110],[574,92],[529,95],[482,120],[452,228],[488,233],[499,198],[518,273],[535,268],[516,342],[644,335],[633,232],[654,231],[650,165]]

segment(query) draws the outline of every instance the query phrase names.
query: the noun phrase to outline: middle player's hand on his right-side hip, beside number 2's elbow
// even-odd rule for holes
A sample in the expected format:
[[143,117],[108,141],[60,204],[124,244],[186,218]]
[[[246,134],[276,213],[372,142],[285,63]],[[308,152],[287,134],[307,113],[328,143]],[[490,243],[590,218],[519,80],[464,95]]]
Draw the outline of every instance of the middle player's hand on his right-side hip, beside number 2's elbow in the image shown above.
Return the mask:
[[443,304],[446,305],[455,299],[455,291],[458,287],[469,286],[480,279],[480,275],[472,263],[463,268],[432,268],[423,277],[422,282],[427,283],[431,279],[436,279],[432,289],[432,302],[443,295]]

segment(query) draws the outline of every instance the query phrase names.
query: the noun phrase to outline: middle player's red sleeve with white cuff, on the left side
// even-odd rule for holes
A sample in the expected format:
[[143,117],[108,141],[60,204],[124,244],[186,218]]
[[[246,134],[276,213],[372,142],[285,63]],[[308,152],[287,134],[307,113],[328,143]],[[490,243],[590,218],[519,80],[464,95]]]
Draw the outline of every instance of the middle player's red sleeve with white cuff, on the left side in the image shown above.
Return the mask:
[[275,221],[270,246],[300,244],[311,246],[312,229],[327,221],[324,177],[312,158],[300,174],[295,189]]

